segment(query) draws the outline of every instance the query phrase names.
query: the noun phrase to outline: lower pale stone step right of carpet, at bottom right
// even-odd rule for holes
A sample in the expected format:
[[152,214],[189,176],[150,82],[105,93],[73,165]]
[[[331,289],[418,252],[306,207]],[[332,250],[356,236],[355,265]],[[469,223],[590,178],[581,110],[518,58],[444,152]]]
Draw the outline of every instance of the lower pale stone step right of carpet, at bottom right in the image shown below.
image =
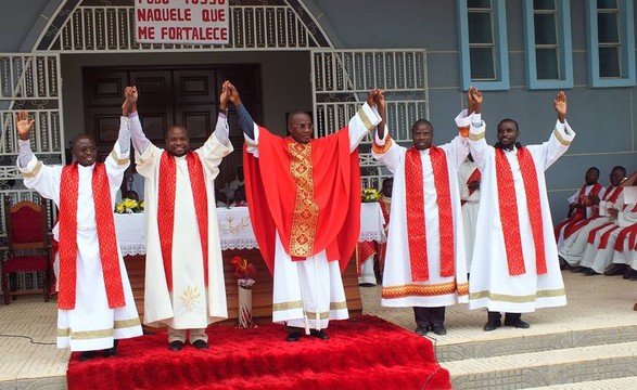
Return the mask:
[[454,389],[524,389],[637,376],[637,341],[444,362]]

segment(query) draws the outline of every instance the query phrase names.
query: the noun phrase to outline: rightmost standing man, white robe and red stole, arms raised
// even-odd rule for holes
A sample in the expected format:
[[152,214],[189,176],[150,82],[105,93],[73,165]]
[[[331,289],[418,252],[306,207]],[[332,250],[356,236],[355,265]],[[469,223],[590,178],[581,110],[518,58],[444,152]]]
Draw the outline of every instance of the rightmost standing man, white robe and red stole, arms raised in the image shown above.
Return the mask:
[[[470,89],[474,100],[482,93]],[[477,231],[471,263],[469,309],[486,308],[485,332],[501,326],[527,328],[521,313],[566,304],[564,283],[546,190],[545,171],[575,138],[566,122],[566,95],[553,101],[558,120],[548,141],[522,146],[518,122],[498,123],[498,142],[489,146],[481,113],[471,120],[469,145],[482,172]]]

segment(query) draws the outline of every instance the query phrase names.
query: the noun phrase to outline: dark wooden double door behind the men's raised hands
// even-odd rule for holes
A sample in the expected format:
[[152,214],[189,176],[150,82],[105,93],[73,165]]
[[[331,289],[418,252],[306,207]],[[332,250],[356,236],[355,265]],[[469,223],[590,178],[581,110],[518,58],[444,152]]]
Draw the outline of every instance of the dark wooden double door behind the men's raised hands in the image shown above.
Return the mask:
[[[188,129],[191,148],[196,148],[215,128],[225,80],[232,80],[253,118],[262,122],[260,68],[256,64],[85,68],[86,129],[95,139],[100,160],[117,141],[126,86],[136,86],[139,91],[138,110],[151,142],[163,147],[165,131],[173,125],[181,125]],[[241,164],[243,135],[235,126],[233,107],[230,108],[230,141],[234,152],[220,166],[215,181],[217,187],[233,180]]]

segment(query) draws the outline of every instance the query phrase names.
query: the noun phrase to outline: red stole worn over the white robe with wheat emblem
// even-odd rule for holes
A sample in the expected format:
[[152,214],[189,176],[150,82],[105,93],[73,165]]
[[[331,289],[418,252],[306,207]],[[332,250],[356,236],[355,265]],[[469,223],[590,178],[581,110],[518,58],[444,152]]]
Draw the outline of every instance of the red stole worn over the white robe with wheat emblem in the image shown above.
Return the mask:
[[[186,155],[188,173],[192,187],[194,211],[203,255],[204,283],[208,285],[208,202],[205,185],[205,172],[199,155],[188,152]],[[173,233],[175,231],[175,193],[177,191],[177,165],[175,156],[164,151],[160,160],[160,193],[157,194],[157,229],[164,260],[164,273],[168,290],[173,290]]]

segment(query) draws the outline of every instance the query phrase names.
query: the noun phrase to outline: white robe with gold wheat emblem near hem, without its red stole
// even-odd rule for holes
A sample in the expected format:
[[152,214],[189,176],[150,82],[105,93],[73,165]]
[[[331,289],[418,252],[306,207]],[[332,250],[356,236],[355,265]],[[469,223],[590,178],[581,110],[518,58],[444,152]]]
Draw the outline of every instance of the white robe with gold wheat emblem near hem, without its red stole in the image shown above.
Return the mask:
[[[131,118],[132,126],[141,127],[138,117]],[[221,144],[213,133],[202,147],[194,151],[205,172],[208,205],[207,287],[204,281],[203,253],[188,161],[184,156],[175,157],[173,290],[168,290],[166,284],[157,225],[160,161],[163,152],[164,150],[153,144],[150,144],[141,155],[136,152],[137,171],[145,178],[146,268],[143,322],[149,326],[167,325],[174,329],[204,329],[208,324],[228,317],[214,179],[219,173],[221,159],[232,152],[232,145]]]

